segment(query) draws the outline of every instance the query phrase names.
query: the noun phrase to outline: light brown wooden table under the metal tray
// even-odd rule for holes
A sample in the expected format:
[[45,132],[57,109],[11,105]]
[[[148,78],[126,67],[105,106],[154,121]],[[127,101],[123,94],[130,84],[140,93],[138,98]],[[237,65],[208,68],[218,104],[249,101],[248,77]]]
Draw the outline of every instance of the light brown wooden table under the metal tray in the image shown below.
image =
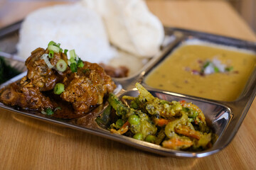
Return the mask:
[[[0,1],[0,27],[60,1]],[[65,1],[65,3],[70,3]],[[223,1],[147,1],[165,26],[256,41]],[[234,140],[200,159],[162,157],[85,132],[0,110],[0,169],[256,169],[256,103]]]

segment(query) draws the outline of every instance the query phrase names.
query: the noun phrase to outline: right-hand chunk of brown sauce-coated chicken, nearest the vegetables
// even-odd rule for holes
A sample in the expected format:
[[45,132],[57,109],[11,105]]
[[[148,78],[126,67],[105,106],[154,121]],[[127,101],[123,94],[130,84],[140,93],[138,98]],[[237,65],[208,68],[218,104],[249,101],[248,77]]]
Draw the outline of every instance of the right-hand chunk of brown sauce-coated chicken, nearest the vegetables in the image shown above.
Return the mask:
[[60,95],[72,103],[76,113],[87,113],[90,106],[103,103],[105,94],[114,91],[114,81],[98,64],[84,62],[77,73],[69,73],[63,80],[65,91]]

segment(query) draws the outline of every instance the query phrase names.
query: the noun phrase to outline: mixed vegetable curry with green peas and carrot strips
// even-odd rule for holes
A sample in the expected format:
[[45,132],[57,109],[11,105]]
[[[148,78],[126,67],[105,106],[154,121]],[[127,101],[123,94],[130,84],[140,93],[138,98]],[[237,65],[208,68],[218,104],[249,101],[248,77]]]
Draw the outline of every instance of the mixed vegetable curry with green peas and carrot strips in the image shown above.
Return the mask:
[[96,119],[110,132],[127,135],[169,149],[198,151],[211,147],[216,136],[198,106],[186,101],[164,101],[137,83],[139,96],[110,94],[110,106]]

